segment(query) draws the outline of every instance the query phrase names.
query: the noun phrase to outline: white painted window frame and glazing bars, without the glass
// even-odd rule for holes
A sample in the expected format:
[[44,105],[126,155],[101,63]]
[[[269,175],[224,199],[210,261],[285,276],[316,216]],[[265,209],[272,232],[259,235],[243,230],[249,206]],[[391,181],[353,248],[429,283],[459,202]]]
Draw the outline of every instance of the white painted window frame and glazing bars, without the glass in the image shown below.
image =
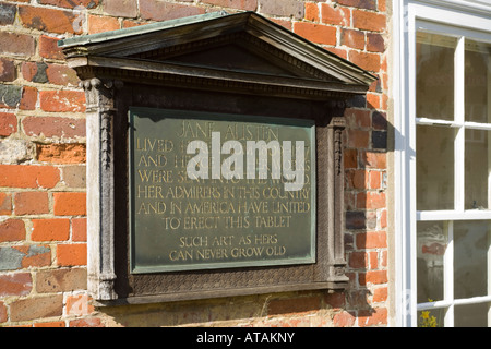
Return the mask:
[[[448,212],[416,210],[416,124],[429,122],[416,119],[416,32],[420,28],[450,35],[464,35],[489,40],[491,35],[491,0],[394,0],[393,1],[393,99],[394,99],[394,229],[395,229],[395,326],[417,326],[417,279],[416,245],[417,220],[448,220]],[[486,29],[488,32],[486,32]],[[464,52],[460,40],[460,52]],[[458,57],[456,58],[459,59]],[[460,58],[462,59],[462,58]],[[456,94],[464,92],[464,72],[455,73]],[[462,91],[457,91],[460,88]],[[457,99],[455,99],[457,103]],[[457,105],[458,119],[455,127],[462,127],[464,106]],[[459,112],[460,110],[462,112]],[[446,124],[448,121],[442,121]],[[433,122],[432,122],[433,123]],[[453,122],[454,123],[454,122]],[[484,127],[484,130],[490,128]],[[464,131],[464,130],[463,130]],[[464,144],[464,134],[457,140]],[[457,144],[458,146],[458,144]],[[462,157],[456,161],[463,163]],[[464,176],[464,166],[456,166],[456,176]],[[459,169],[459,170],[458,170]],[[464,181],[462,181],[464,182]],[[463,184],[464,185],[464,184]],[[458,186],[458,185],[456,185]],[[455,191],[463,195],[463,186]],[[464,200],[459,200],[464,202]],[[490,212],[466,212],[464,206],[452,210],[454,220],[488,219]],[[460,209],[462,208],[462,209]],[[452,226],[452,225],[451,225]],[[452,227],[450,227],[452,233]],[[452,252],[453,245],[448,246]],[[447,249],[448,249],[447,248]],[[451,254],[448,254],[451,255]],[[452,263],[450,263],[452,264]],[[447,273],[447,269],[445,273]],[[447,294],[445,294],[447,296]],[[453,294],[450,294],[453,299]],[[472,299],[491,301],[491,297]],[[458,304],[439,301],[421,306],[442,308]],[[427,308],[424,308],[427,309]],[[452,316],[453,317],[453,316]],[[452,325],[452,324],[446,324]]]

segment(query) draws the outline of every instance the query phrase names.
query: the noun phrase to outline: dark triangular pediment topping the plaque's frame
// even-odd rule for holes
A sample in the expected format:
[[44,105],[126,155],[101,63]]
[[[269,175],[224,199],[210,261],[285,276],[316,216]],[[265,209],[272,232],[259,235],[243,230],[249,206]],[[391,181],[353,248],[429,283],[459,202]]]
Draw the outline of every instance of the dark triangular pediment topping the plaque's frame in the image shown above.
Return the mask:
[[[364,93],[375,76],[254,13],[208,13],[62,40],[69,64]],[[84,59],[82,59],[84,58]]]

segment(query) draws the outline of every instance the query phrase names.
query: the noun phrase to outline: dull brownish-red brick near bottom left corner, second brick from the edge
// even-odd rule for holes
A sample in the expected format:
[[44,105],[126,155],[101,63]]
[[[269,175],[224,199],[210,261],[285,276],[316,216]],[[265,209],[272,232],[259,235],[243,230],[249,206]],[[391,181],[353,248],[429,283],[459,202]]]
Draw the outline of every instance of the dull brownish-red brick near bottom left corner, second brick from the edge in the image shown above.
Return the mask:
[[10,304],[11,321],[28,321],[63,314],[63,294],[21,299]]

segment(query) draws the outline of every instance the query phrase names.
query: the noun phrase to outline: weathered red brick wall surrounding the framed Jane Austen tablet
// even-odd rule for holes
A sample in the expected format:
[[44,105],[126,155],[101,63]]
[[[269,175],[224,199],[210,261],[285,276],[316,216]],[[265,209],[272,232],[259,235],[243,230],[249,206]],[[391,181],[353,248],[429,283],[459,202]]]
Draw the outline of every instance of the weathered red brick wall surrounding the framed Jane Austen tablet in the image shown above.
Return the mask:
[[[387,324],[386,0],[0,1],[0,326]],[[256,11],[380,79],[346,111],[349,289],[95,309],[86,292],[85,96],[57,40]]]

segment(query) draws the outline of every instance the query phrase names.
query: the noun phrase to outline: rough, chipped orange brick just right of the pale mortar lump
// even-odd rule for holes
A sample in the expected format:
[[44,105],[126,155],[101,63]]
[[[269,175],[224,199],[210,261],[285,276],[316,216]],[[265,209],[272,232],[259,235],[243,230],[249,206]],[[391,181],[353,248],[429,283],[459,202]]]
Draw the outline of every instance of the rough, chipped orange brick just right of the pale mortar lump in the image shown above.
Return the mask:
[[38,161],[51,164],[82,164],[85,163],[85,144],[38,144]]

